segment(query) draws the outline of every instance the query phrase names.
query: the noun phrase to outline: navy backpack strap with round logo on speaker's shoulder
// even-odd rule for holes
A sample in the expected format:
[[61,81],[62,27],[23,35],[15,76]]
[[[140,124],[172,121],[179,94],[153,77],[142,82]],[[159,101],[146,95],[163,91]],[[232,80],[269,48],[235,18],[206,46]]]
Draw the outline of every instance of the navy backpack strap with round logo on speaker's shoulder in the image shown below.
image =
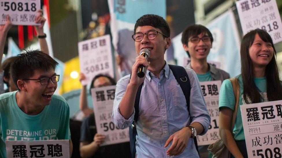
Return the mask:
[[[179,83],[183,94],[185,96],[186,102],[187,102],[187,108],[188,108],[188,113],[190,115],[190,90],[191,90],[191,84],[190,84],[190,80],[188,77],[187,72],[185,71],[185,68],[182,66],[177,66],[177,65],[170,65],[168,64],[170,70],[172,71],[175,79],[177,80],[177,82]],[[192,116],[190,115],[190,122],[192,122]],[[197,143],[197,139],[196,137],[194,138],[194,143],[195,143],[195,147],[197,152],[199,153],[198,150],[198,143]]]

